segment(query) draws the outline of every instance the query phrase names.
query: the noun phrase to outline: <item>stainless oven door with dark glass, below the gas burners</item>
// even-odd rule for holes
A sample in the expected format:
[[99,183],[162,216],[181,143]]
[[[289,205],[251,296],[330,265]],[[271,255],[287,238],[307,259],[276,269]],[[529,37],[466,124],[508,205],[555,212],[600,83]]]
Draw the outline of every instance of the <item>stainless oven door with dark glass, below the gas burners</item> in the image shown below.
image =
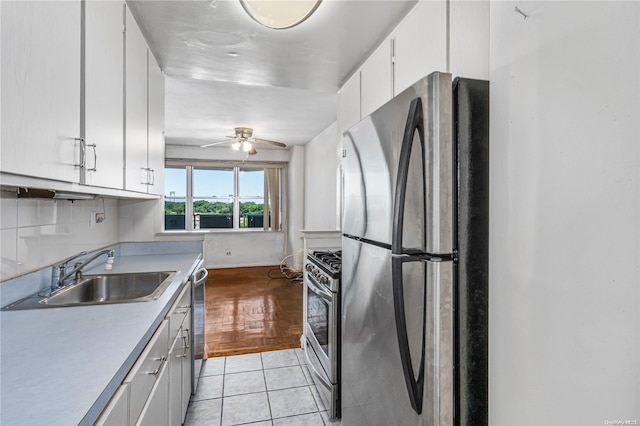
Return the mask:
[[313,347],[326,376],[336,382],[338,301],[336,293],[306,274],[307,329],[305,336]]

